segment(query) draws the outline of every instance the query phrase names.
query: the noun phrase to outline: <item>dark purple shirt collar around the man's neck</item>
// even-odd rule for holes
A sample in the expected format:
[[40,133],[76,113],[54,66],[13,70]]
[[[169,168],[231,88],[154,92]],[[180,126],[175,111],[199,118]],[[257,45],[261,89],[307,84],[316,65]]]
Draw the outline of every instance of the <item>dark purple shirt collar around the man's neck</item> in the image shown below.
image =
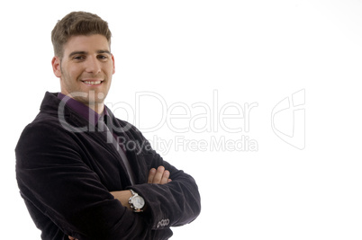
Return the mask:
[[104,115],[109,116],[107,108],[104,106],[104,112],[102,114],[98,114],[93,109],[86,106],[86,104],[82,102],[78,102],[77,100],[65,95],[63,93],[58,93],[58,98],[61,101],[65,101],[66,105],[71,108],[73,111],[77,111],[77,113],[83,117],[84,119],[88,120],[94,126],[98,123],[98,120],[103,118]]

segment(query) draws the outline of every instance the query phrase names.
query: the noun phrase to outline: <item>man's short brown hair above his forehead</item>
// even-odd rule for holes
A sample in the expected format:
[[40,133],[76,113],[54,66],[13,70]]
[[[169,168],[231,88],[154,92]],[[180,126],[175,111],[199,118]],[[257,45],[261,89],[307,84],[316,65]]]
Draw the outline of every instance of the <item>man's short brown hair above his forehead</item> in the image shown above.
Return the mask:
[[63,46],[70,37],[93,34],[103,35],[111,46],[112,33],[108,28],[108,23],[102,18],[94,13],[68,13],[62,20],[57,22],[53,31],[51,31],[51,42],[53,43],[55,56],[63,57]]

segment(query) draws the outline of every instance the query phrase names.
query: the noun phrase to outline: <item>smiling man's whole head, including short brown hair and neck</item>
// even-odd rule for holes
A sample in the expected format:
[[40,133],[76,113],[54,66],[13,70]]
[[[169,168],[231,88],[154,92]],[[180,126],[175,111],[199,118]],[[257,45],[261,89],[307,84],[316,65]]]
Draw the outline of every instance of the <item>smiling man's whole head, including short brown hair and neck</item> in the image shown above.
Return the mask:
[[51,40],[51,64],[61,93],[102,112],[114,74],[107,22],[92,13],[69,13],[57,23]]

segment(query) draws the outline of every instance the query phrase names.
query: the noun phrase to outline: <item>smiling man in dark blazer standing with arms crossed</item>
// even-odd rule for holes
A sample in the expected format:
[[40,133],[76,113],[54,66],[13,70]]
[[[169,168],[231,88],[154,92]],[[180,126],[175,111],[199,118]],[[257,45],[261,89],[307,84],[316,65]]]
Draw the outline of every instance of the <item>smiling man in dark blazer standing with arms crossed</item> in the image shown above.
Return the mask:
[[16,146],[16,177],[42,239],[168,239],[200,213],[194,179],[104,106],[114,74],[111,31],[69,13],[51,33],[60,93]]

